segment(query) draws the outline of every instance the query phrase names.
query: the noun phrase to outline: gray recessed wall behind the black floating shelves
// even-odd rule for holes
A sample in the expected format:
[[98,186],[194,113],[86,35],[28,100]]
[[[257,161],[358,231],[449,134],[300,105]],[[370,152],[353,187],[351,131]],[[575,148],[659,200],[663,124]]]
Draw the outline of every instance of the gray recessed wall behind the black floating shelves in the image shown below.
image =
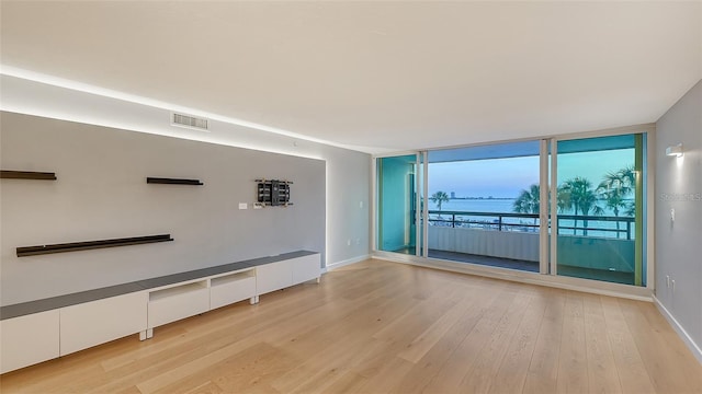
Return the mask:
[[[58,177],[2,179],[2,304],[296,250],[324,256],[322,160],[1,116],[2,169],[56,172]],[[204,186],[148,185],[147,176],[199,178]],[[257,177],[293,181],[294,206],[253,210]],[[352,182],[367,183],[367,177]],[[239,202],[249,209],[239,210]],[[335,209],[332,217],[338,216]],[[176,241],[15,254],[18,246],[161,233]]]

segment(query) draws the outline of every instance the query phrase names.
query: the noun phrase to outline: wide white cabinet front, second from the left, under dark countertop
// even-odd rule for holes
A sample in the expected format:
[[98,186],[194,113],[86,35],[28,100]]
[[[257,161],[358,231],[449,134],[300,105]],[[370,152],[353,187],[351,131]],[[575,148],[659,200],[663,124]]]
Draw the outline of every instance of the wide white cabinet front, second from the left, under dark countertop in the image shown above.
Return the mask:
[[146,329],[144,291],[60,309],[61,356]]

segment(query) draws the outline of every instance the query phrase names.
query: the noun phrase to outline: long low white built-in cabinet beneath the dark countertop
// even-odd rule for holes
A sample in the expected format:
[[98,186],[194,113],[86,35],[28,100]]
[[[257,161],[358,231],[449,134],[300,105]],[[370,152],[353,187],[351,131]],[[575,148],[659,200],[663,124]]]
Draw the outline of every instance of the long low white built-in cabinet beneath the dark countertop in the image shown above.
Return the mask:
[[244,269],[3,317],[0,373],[137,333],[144,340],[154,335],[155,327],[247,299],[253,304],[260,294],[319,279],[318,253],[281,256],[258,260]]

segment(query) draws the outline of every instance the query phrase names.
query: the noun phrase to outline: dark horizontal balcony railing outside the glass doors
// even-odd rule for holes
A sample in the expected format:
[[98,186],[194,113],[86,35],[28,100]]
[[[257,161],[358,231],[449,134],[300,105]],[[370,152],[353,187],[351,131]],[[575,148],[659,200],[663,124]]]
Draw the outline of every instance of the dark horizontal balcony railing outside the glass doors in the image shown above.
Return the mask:
[[[558,215],[558,234],[569,232],[626,240],[634,236],[634,218],[613,216]],[[536,213],[429,211],[429,225],[483,229],[492,231],[537,232],[541,227]]]

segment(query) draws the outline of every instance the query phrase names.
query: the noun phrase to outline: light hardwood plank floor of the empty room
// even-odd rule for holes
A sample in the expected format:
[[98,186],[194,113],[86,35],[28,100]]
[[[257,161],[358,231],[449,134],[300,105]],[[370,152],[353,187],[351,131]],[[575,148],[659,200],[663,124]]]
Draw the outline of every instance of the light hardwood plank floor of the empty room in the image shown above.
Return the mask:
[[9,393],[702,393],[652,303],[367,260],[0,376]]

